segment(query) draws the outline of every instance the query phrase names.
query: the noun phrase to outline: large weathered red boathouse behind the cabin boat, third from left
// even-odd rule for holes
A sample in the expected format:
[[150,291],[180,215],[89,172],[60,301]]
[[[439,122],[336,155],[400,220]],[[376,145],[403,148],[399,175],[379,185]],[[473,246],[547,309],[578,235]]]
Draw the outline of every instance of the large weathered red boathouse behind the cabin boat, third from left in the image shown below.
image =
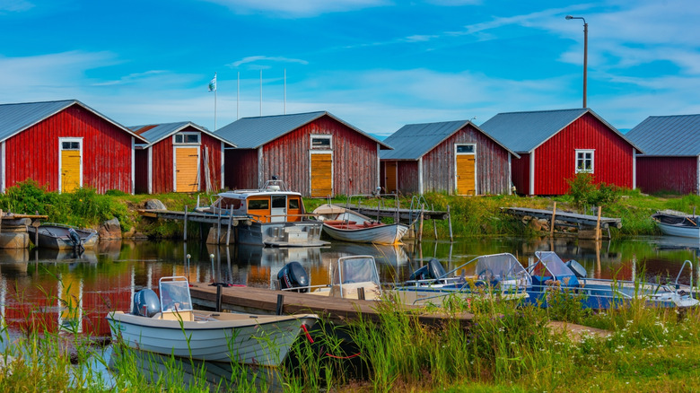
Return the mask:
[[372,192],[379,152],[390,149],[325,111],[241,118],[215,134],[238,146],[226,150],[227,188],[259,188],[277,176],[312,197]]

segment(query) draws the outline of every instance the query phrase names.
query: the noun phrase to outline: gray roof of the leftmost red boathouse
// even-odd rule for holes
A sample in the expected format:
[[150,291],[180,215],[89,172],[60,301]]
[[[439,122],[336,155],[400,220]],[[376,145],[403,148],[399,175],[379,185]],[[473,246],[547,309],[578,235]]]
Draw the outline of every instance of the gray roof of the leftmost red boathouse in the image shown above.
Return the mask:
[[34,126],[46,118],[50,118],[71,105],[80,105],[84,109],[91,111],[95,115],[104,118],[109,123],[121,128],[128,134],[135,136],[139,141],[143,140],[141,136],[136,135],[127,127],[118,124],[116,121],[102,115],[100,112],[88,107],[79,100],[58,100],[0,104],[0,142],[21,133],[25,129]]

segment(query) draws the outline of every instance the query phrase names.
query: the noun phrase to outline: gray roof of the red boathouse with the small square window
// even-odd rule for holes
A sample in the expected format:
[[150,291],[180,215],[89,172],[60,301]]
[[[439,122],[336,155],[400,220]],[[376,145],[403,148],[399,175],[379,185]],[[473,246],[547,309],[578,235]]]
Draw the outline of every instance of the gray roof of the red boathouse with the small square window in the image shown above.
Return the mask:
[[607,121],[588,108],[499,113],[488,119],[481,128],[495,139],[503,141],[503,144],[513,152],[529,153],[586,113],[591,113],[606,127],[632,144],[635,149],[641,150],[617,128],[610,126]]

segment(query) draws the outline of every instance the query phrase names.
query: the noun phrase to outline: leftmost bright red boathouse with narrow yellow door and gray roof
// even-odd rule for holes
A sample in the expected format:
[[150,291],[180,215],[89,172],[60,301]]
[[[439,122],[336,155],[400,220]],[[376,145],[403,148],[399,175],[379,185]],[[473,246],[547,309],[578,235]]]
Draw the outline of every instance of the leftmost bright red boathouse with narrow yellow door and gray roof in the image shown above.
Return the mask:
[[78,100],[0,105],[0,192],[33,179],[49,191],[134,192],[134,144],[127,127]]

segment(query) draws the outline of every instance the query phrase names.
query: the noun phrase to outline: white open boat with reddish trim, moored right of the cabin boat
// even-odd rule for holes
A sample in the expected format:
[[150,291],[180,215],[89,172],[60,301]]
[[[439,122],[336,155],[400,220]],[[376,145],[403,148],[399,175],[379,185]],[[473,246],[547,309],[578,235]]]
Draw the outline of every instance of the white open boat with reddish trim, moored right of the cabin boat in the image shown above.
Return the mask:
[[380,223],[337,205],[320,205],[313,211],[323,231],[335,240],[354,243],[398,244],[408,231],[402,223]]

